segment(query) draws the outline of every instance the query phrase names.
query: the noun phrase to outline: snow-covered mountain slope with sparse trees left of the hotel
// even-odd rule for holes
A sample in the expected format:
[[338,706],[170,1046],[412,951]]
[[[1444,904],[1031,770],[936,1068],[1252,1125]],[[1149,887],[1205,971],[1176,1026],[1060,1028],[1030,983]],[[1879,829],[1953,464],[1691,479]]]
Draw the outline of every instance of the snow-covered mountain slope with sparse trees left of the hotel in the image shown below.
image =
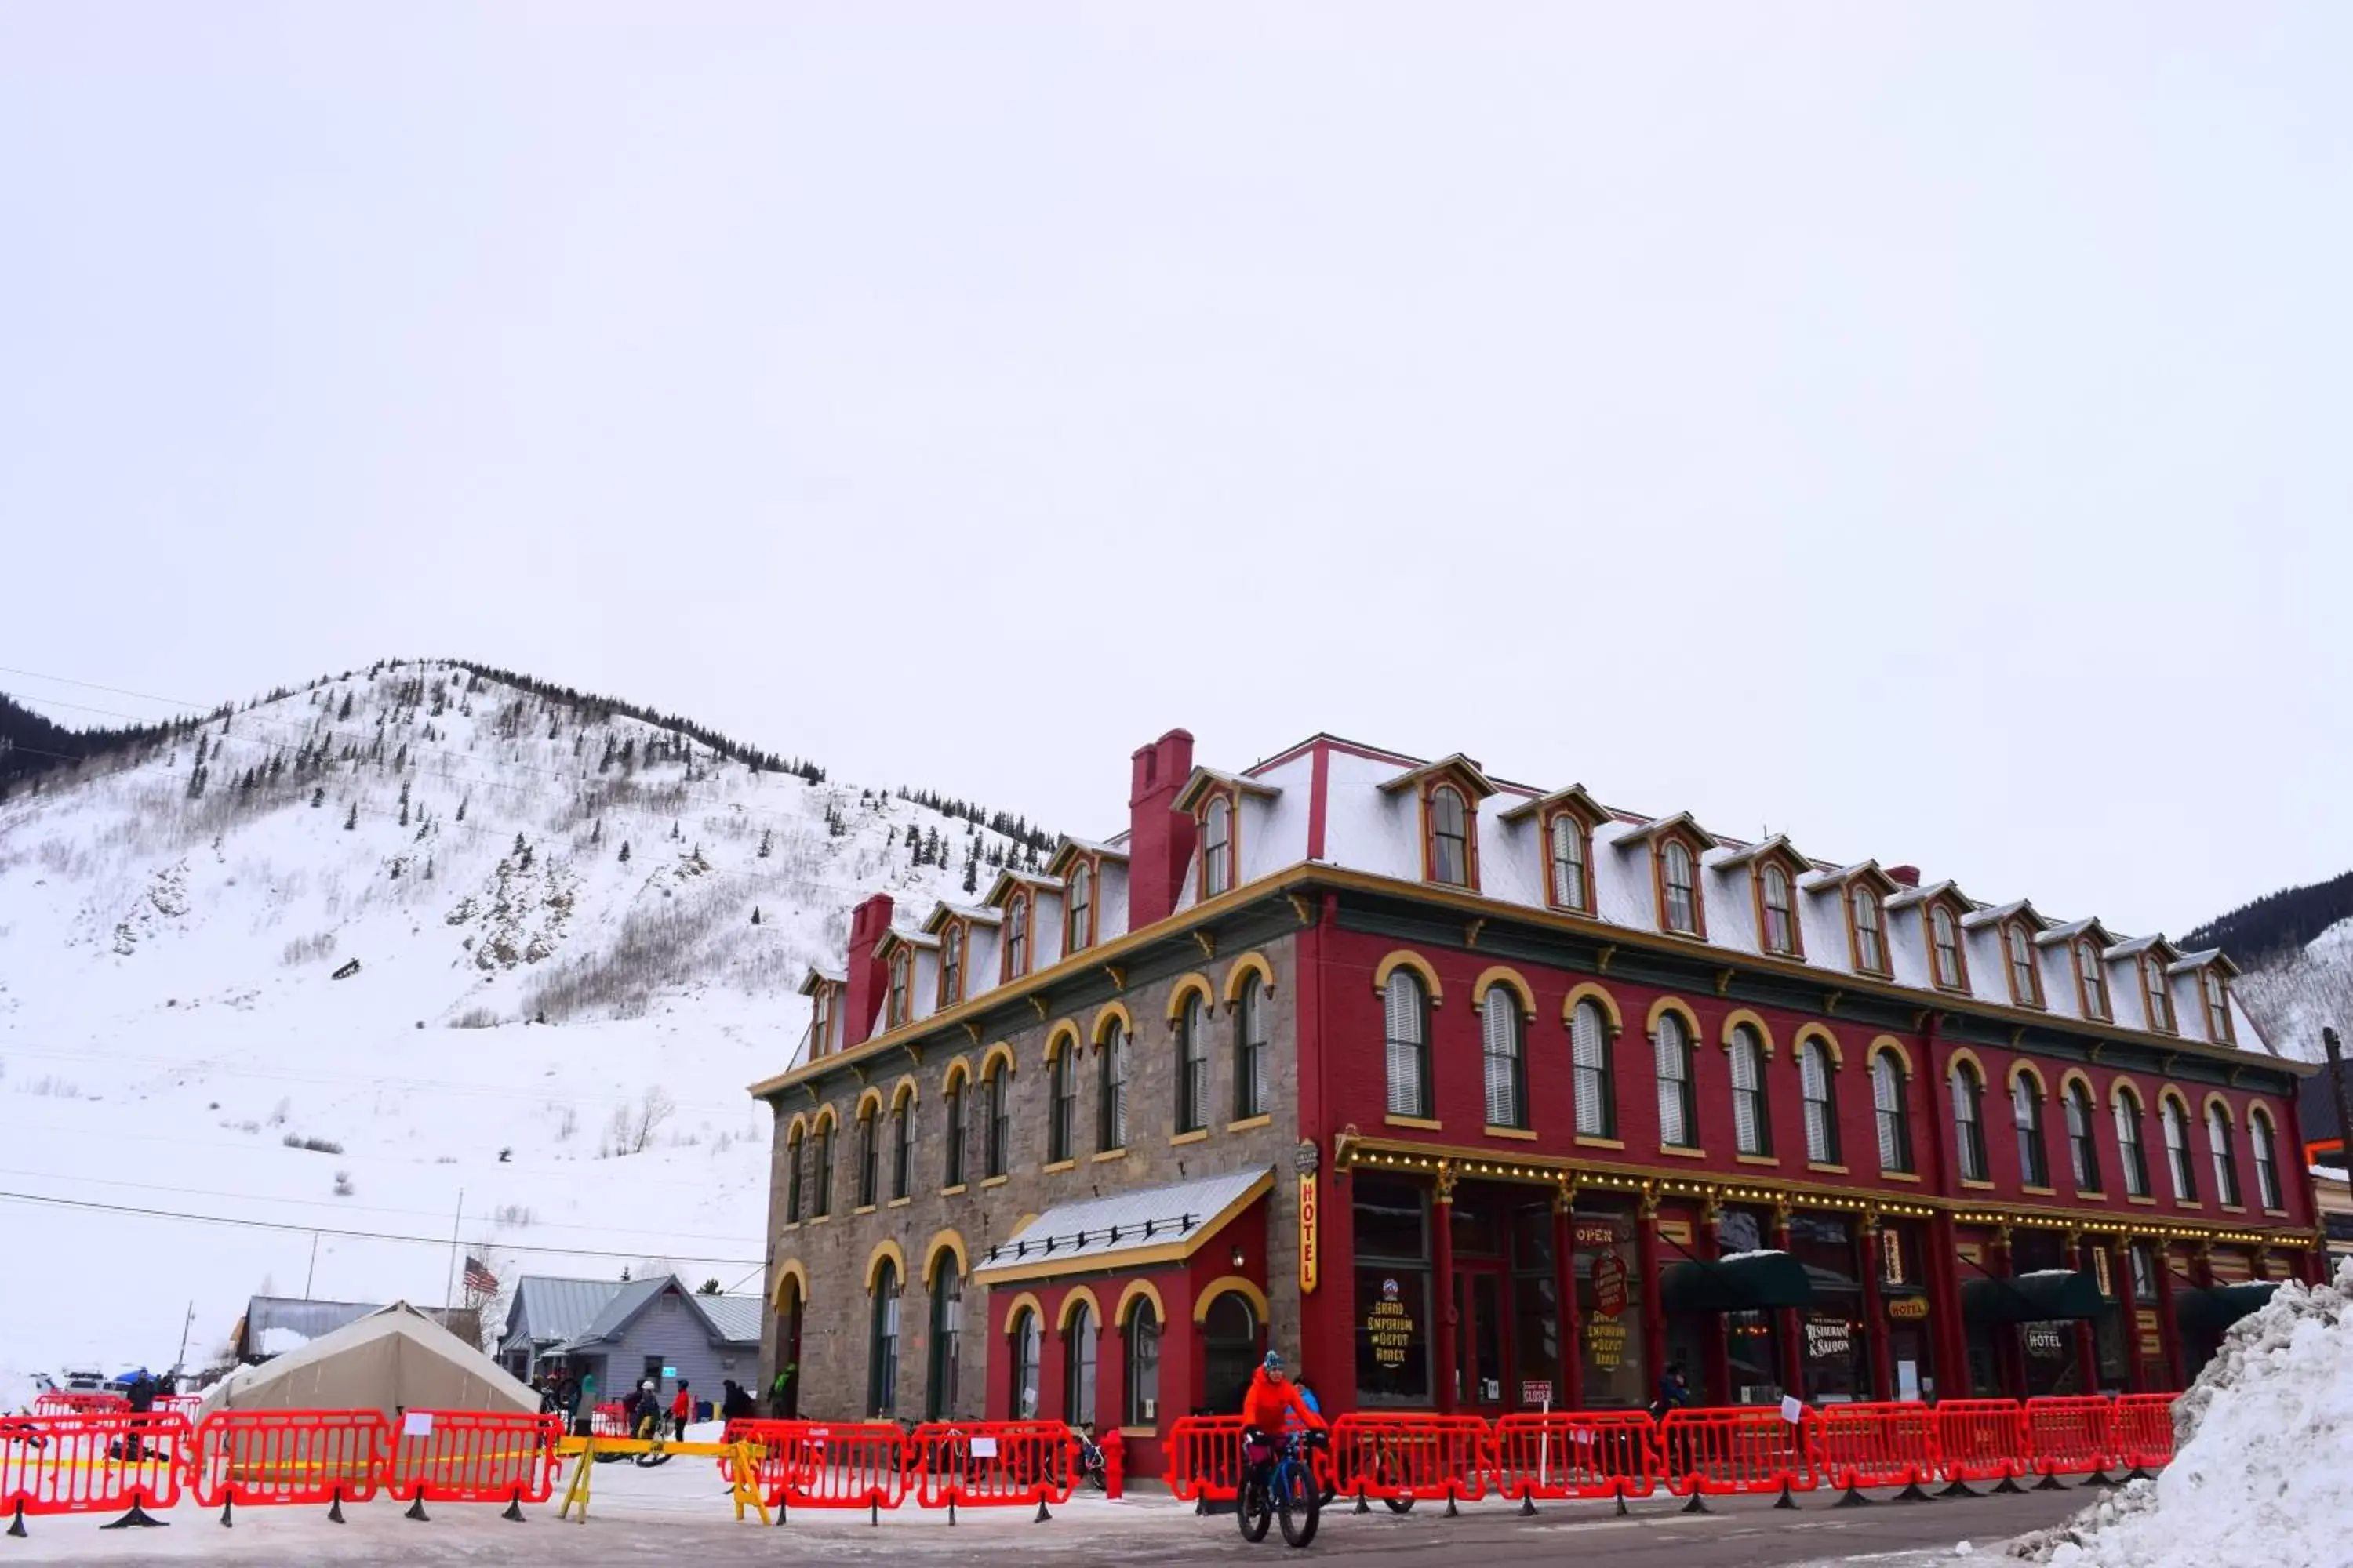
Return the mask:
[[868,891],[915,919],[1007,853],[447,663],[16,788],[0,1227],[40,1284],[0,1295],[0,1373],[169,1363],[191,1298],[198,1363],[249,1293],[304,1293],[313,1234],[322,1298],[442,1300],[452,1229],[501,1276],[758,1288],[744,1086],[798,1051],[802,971]]

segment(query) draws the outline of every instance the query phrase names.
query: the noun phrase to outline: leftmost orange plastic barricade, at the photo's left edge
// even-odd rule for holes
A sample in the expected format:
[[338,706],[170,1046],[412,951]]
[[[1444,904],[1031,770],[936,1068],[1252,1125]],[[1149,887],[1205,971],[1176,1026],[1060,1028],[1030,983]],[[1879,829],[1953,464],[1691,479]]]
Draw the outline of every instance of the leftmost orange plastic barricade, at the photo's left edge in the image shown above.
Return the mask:
[[26,1514],[113,1514],[106,1526],[158,1523],[148,1509],[179,1502],[188,1422],[129,1410],[0,1420],[0,1514],[24,1535]]

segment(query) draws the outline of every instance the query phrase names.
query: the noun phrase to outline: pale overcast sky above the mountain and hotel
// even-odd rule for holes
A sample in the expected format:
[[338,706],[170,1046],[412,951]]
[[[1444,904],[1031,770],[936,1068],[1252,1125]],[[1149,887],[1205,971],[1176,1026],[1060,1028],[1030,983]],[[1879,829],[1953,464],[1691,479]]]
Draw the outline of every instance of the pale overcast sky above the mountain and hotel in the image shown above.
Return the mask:
[[14,0],[0,665],[459,654],[1075,832],[1172,724],[1329,729],[2179,933],[2353,865],[2348,61]]

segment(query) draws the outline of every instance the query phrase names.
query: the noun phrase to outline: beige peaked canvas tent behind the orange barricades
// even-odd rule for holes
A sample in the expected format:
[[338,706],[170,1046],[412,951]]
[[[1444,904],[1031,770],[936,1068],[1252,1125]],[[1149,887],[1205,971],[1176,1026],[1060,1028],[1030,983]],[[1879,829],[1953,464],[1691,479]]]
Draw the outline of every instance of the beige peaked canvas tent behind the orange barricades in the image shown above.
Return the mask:
[[522,1410],[539,1396],[407,1302],[247,1366],[205,1396],[214,1410]]

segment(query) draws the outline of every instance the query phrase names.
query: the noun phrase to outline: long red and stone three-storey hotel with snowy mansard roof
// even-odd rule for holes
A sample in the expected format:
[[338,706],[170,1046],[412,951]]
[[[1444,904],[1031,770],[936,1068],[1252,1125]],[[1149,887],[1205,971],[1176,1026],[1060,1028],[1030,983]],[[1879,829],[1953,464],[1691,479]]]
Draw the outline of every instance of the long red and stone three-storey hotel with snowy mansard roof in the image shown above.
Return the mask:
[[[911,919],[913,917],[913,919]],[[1158,1467],[1325,1410],[2172,1389],[2315,1276],[2231,961],[1315,736],[852,919],[776,1114],[769,1373]]]

